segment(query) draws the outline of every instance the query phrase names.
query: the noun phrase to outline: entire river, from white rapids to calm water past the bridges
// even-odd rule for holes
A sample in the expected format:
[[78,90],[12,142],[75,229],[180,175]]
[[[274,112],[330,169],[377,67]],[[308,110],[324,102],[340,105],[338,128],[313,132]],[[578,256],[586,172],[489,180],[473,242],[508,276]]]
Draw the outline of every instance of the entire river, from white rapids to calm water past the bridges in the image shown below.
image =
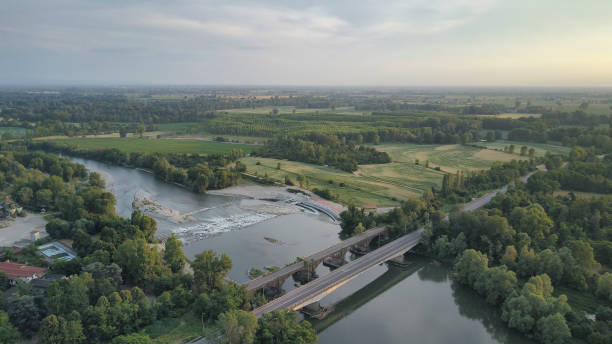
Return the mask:
[[[198,195],[143,171],[74,161],[103,176],[121,216],[128,217],[134,199],[143,197],[189,214],[178,222],[154,216],[158,236],[179,234],[189,258],[208,249],[226,253],[234,264],[230,277],[238,282],[248,280],[249,268],[283,266],[339,241],[339,226],[325,215],[256,213],[244,206],[260,201]],[[508,329],[483,298],[454,284],[447,267],[421,257],[406,260],[407,268],[377,265],[325,297],[321,304],[334,311],[311,321],[320,343],[531,343]],[[319,275],[328,271],[317,268]],[[294,284],[290,278],[283,288]]]

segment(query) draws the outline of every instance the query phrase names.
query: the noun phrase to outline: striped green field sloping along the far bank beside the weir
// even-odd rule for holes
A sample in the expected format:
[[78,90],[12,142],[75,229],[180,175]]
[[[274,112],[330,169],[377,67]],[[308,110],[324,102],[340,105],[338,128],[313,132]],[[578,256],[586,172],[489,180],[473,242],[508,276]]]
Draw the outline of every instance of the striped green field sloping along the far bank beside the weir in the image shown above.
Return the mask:
[[[391,181],[368,178],[325,166],[259,157],[248,157],[240,161],[247,165],[249,173],[262,177],[268,175],[278,181],[283,181],[285,176],[289,176],[297,183],[298,174],[302,174],[310,181],[312,188],[328,188],[338,194],[340,202],[344,204],[353,202],[357,206],[395,206],[399,203],[398,200],[419,197],[422,192],[414,187],[398,187]],[[279,162],[281,168],[277,169]],[[333,184],[329,182],[330,180]],[[440,175],[438,183],[441,182]]]

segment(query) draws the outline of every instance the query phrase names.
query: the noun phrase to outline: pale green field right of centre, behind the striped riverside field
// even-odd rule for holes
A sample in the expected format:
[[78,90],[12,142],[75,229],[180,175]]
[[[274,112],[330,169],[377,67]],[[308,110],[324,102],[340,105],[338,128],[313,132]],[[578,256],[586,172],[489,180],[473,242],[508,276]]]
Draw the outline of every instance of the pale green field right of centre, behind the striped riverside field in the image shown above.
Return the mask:
[[[429,161],[430,167],[440,167],[442,171],[449,173],[455,173],[459,170],[485,169],[489,168],[495,161],[506,162],[524,158],[519,155],[463,145],[400,143],[382,144],[373,147],[389,153],[394,163],[414,167],[415,161],[418,159],[422,166],[425,165],[426,161]],[[403,168],[405,169],[406,167]],[[377,170],[376,173],[384,175],[385,171]]]

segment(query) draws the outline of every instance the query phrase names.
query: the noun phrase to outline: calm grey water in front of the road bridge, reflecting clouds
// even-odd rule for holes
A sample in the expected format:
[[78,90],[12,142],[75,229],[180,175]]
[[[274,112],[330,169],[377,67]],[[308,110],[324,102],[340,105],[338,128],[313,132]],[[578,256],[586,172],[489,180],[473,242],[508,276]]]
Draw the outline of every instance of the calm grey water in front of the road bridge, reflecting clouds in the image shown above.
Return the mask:
[[[423,257],[407,260],[410,267],[389,267],[339,301],[327,318],[311,320],[320,342],[531,343],[483,298],[452,283],[447,267]],[[344,287],[352,288],[351,282]]]

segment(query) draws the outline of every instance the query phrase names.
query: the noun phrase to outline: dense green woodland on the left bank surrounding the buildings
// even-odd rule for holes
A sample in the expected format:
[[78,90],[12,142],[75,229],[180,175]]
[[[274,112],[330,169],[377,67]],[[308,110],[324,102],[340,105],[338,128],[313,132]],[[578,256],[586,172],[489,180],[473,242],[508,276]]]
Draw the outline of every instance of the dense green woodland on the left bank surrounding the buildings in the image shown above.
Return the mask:
[[[152,343],[142,329],[184,314],[214,323],[212,339],[316,341],[309,323],[298,322],[292,311],[257,320],[249,310],[261,300],[252,299],[243,286],[224,281],[232,267],[227,255],[204,251],[188,261],[176,236],[158,250],[156,221],[140,211],[128,219],[118,217],[115,198],[104,191],[99,174],[41,152],[3,152],[0,173],[3,190],[20,204],[49,209],[50,237],[72,240],[78,253],[71,261],[49,266],[68,277],[52,282],[45,294],[20,282],[2,298],[3,343],[35,335],[38,343]],[[15,257],[9,250],[2,259],[19,260],[26,254]],[[193,273],[185,272],[187,265]]]

